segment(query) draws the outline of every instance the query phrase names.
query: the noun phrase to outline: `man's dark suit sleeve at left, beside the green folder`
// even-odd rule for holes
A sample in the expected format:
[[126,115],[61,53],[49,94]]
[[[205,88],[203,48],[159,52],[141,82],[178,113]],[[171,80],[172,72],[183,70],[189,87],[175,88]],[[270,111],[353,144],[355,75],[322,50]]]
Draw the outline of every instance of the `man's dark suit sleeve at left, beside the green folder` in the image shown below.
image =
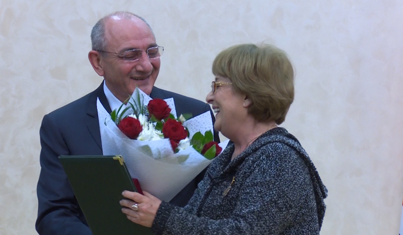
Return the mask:
[[41,235],[92,234],[58,160],[59,155],[68,155],[69,149],[62,133],[49,115],[45,115],[39,135],[42,149],[41,173],[36,189],[37,232]]

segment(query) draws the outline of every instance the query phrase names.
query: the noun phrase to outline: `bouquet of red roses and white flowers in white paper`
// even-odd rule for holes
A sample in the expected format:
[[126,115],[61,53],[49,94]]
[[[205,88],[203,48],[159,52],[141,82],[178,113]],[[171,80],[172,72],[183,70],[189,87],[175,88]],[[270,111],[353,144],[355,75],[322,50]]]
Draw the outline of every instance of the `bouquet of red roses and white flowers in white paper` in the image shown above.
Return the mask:
[[98,100],[97,109],[104,155],[122,155],[132,178],[160,200],[170,201],[228,143],[213,142],[210,112],[177,118],[172,98],[152,100],[137,88],[126,108],[109,114]]

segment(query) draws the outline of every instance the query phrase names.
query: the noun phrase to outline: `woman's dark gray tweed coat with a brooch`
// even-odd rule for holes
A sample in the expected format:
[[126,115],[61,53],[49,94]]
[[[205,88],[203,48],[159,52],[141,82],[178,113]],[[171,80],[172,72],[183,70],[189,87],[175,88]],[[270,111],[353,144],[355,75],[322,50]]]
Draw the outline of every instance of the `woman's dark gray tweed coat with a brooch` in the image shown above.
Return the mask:
[[212,161],[185,208],[161,203],[155,234],[319,234],[327,189],[293,135],[269,130],[230,162],[233,151]]

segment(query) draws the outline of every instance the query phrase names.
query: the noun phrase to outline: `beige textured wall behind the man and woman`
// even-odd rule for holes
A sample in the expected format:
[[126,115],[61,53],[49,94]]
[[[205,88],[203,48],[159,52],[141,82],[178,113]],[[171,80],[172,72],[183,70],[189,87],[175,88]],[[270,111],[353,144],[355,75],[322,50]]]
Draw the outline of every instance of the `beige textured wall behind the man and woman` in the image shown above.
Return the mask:
[[89,34],[114,10],[144,16],[165,47],[157,85],[200,100],[220,50],[250,42],[286,50],[296,97],[283,126],[329,189],[321,234],[398,234],[401,0],[1,0],[0,234],[36,234],[41,120],[102,81],[87,59]]

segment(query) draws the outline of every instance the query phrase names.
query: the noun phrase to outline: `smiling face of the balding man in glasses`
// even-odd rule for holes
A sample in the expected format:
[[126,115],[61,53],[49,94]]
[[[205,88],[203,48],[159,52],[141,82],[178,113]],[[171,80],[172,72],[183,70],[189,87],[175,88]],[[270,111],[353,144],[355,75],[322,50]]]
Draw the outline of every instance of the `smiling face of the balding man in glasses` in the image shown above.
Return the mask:
[[141,19],[112,16],[105,23],[106,51],[123,54],[127,50],[141,49],[138,61],[125,61],[122,56],[107,53],[100,56],[104,79],[109,90],[125,101],[136,87],[150,94],[159,73],[159,58],[148,58],[147,49],[157,46],[150,28]]

